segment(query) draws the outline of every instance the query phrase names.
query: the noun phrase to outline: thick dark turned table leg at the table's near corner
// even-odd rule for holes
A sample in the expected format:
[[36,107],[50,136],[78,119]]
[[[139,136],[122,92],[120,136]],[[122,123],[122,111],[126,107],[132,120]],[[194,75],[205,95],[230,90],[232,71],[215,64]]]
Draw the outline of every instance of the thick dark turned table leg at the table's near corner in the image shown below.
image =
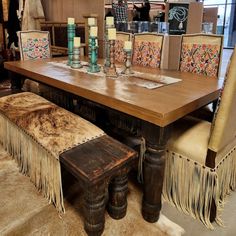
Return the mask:
[[143,122],[142,135],[146,140],[146,153],[143,163],[144,190],[142,215],[148,222],[156,222],[161,210],[161,194],[165,169],[165,147],[169,127],[158,127]]

